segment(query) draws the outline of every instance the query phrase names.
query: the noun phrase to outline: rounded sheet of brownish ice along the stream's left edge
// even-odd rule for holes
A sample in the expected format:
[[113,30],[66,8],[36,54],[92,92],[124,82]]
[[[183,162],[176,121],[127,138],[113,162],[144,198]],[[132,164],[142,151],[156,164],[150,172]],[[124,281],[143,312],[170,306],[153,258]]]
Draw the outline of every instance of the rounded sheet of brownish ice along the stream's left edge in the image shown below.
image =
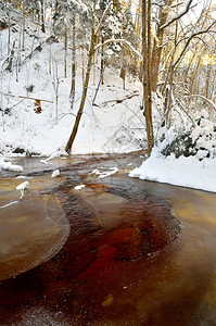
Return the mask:
[[23,179],[0,179],[0,280],[48,261],[69,235],[69,223],[58,197],[35,192],[50,180],[42,183],[38,177],[29,181],[30,190],[18,200],[21,192],[14,189]]

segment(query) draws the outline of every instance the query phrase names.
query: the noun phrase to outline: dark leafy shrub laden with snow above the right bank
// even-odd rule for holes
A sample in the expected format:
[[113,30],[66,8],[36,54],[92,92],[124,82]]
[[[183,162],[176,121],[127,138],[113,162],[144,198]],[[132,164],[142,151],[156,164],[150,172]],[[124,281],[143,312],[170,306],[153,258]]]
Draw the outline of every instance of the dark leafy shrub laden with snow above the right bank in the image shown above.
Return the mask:
[[158,149],[165,156],[195,155],[199,160],[215,158],[216,124],[202,114],[188,130],[185,128],[167,130],[161,139]]

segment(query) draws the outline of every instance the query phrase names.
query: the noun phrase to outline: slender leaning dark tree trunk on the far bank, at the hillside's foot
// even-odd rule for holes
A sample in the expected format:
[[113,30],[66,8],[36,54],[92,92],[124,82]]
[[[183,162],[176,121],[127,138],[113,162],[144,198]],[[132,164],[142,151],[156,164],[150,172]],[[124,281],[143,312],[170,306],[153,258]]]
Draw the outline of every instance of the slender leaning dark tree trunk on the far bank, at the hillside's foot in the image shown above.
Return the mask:
[[91,42],[90,42],[90,49],[89,49],[89,55],[88,55],[86,78],[85,78],[85,84],[84,84],[84,89],[82,89],[82,95],[81,95],[81,102],[80,102],[79,110],[78,110],[78,113],[77,113],[77,116],[76,116],[76,120],[75,120],[74,128],[72,130],[72,134],[69,136],[69,139],[68,139],[66,148],[65,148],[65,151],[67,153],[71,152],[72,146],[74,143],[74,140],[75,140],[77,131],[78,131],[79,122],[81,120],[81,115],[82,115],[82,112],[84,112],[84,106],[85,106],[88,86],[89,86],[91,63],[92,63],[93,51],[94,51],[94,38],[96,38],[96,35],[94,35],[94,8],[96,8],[96,0],[94,0],[93,11],[92,11]]

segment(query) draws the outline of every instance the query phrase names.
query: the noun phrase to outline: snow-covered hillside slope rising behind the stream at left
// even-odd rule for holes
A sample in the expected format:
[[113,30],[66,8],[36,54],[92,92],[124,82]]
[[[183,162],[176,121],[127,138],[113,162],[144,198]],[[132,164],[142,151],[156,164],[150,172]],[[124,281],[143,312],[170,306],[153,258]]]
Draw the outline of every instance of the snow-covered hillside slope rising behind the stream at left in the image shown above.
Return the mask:
[[[50,41],[49,28],[47,34],[42,34],[38,25],[26,20],[24,50],[18,51],[22,48],[18,18],[17,13],[11,17],[13,27],[10,49],[14,50],[11,72],[8,55],[9,28],[0,32],[0,153],[50,155],[55,151],[64,152],[82,91],[81,53],[77,49],[76,95],[72,110],[69,46],[67,76],[64,77],[63,41]],[[5,21],[2,11],[0,21]],[[128,152],[141,149],[145,131],[140,110],[139,83],[127,82],[124,90],[118,74],[107,68],[105,84],[100,87],[96,105],[92,105],[99,78],[99,66],[96,63],[72,153]],[[125,99],[131,95],[130,99]],[[37,105],[40,106],[39,110]],[[40,109],[40,113],[35,112]]]

